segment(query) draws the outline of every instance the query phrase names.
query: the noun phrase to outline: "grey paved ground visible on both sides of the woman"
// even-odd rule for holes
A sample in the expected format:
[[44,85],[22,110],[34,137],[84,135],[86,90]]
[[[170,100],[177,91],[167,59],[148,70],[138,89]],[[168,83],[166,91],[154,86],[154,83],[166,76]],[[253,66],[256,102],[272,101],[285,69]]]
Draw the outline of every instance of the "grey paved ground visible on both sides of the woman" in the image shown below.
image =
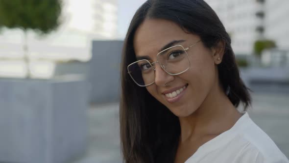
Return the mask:
[[[289,158],[289,94],[254,94],[249,114]],[[88,111],[87,153],[72,163],[121,163],[118,104]]]

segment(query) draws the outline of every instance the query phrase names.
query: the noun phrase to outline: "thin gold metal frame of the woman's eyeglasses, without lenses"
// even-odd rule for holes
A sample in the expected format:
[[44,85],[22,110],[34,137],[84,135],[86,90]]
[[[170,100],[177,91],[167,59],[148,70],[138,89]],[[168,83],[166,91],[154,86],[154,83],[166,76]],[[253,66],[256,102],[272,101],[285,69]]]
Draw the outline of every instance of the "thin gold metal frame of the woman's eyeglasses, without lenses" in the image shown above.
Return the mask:
[[[167,48],[167,49],[165,49],[165,50],[163,50],[163,51],[161,51],[160,53],[157,54],[157,61],[156,61],[156,62],[150,63],[147,59],[137,60],[137,61],[135,61],[135,62],[133,62],[133,63],[131,63],[131,64],[129,64],[129,65],[127,66],[127,73],[129,74],[129,76],[131,77],[131,79],[132,79],[137,85],[142,86],[142,87],[149,86],[149,85],[153,84],[155,81],[153,81],[153,82],[150,83],[150,84],[140,85],[137,81],[135,81],[135,80],[133,79],[132,75],[130,74],[130,71],[129,71],[128,67],[129,67],[130,65],[135,64],[135,63],[140,62],[140,61],[146,61],[146,62],[148,62],[148,63],[150,64],[150,66],[153,67],[154,72],[156,71],[156,68],[155,68],[155,66],[153,66],[153,64],[159,63],[160,67],[161,67],[166,73],[168,73],[169,75],[172,75],[172,76],[180,75],[180,74],[188,71],[189,68],[191,67],[191,61],[190,61],[190,58],[189,58],[189,55],[188,55],[187,51],[188,51],[191,47],[193,47],[194,45],[196,45],[198,42],[200,42],[200,41],[201,41],[201,40],[197,41],[196,43],[194,43],[193,45],[189,46],[188,48],[184,48],[182,45],[175,45],[175,46],[169,47],[169,48]],[[162,63],[159,62],[158,55],[161,54],[161,53],[163,53],[163,52],[165,52],[165,51],[167,51],[168,49],[171,49],[171,48],[174,48],[174,47],[177,47],[177,46],[180,46],[180,47],[182,47],[182,48],[185,50],[186,55],[187,55],[187,57],[188,57],[188,59],[189,59],[189,67],[188,67],[186,70],[184,70],[184,71],[182,71],[182,72],[180,72],[180,73],[171,74],[171,73],[169,73],[169,72],[166,70],[166,66],[165,66],[164,64],[162,64]]]

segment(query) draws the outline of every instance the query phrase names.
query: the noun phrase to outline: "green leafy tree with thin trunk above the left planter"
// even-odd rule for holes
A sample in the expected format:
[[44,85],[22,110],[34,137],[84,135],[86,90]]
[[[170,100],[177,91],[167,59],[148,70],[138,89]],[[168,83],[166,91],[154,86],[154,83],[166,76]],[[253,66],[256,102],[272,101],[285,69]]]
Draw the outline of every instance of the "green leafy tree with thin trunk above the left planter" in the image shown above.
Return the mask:
[[0,28],[20,28],[24,32],[24,60],[30,76],[27,31],[45,35],[60,25],[60,0],[0,0]]

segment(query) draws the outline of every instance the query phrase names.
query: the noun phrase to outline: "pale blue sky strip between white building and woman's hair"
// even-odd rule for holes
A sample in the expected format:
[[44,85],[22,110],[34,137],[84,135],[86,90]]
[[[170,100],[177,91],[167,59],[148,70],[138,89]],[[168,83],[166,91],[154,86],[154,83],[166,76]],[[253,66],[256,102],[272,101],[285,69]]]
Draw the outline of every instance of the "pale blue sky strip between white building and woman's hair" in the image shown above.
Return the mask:
[[146,0],[118,0],[118,33],[120,38],[124,38],[134,13],[145,1]]

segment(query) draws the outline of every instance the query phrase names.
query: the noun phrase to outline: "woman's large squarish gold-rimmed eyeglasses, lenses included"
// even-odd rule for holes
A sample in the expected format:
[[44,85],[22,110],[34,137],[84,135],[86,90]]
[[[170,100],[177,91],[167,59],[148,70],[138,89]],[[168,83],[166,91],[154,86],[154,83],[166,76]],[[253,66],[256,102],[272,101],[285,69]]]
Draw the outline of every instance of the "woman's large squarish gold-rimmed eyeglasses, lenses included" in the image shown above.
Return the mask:
[[127,66],[128,74],[139,86],[149,86],[155,82],[155,63],[159,63],[162,69],[169,75],[182,74],[191,66],[187,51],[200,41],[197,41],[188,48],[184,48],[182,45],[167,48],[157,54],[156,62],[150,63],[146,59],[133,62]]

